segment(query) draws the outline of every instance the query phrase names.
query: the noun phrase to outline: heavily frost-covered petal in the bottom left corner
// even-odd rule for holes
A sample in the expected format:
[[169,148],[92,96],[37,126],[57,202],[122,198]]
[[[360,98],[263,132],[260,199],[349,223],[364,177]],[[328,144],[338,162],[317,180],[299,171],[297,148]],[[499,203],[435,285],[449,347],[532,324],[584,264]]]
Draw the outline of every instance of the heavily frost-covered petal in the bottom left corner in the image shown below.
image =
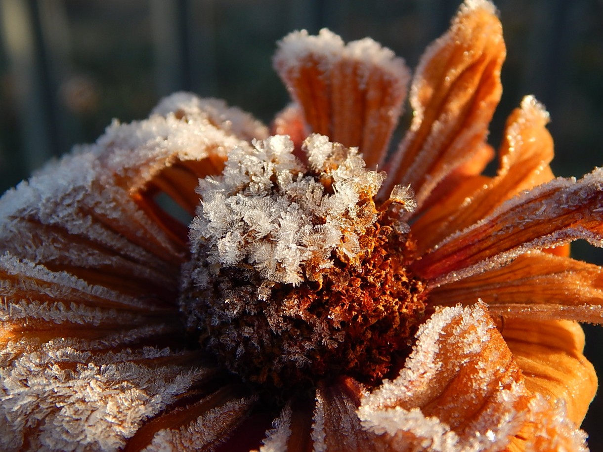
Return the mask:
[[[77,350],[57,339],[0,359],[2,450],[113,451],[204,374],[191,354]],[[14,356],[15,348],[19,350]]]

